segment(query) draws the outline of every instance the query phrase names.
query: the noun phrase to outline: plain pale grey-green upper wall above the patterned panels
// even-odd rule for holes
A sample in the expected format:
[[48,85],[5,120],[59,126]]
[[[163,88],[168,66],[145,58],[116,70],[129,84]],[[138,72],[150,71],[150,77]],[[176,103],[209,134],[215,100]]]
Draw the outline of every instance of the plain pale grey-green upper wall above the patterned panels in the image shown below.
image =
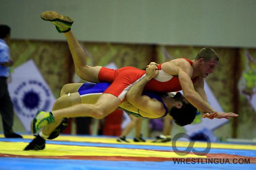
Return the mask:
[[64,40],[48,10],[83,41],[256,47],[256,0],[0,0],[0,23],[13,39]]

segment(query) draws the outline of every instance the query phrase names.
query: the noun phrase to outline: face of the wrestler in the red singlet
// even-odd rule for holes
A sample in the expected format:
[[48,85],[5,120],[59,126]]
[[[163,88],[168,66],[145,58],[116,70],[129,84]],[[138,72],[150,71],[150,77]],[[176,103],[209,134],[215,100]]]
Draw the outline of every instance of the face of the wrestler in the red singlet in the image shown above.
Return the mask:
[[199,64],[201,77],[206,78],[209,74],[214,72],[218,64],[218,61],[212,58],[210,61],[205,62],[203,58],[200,58]]

